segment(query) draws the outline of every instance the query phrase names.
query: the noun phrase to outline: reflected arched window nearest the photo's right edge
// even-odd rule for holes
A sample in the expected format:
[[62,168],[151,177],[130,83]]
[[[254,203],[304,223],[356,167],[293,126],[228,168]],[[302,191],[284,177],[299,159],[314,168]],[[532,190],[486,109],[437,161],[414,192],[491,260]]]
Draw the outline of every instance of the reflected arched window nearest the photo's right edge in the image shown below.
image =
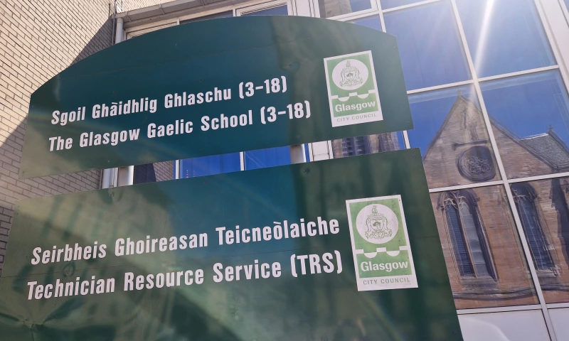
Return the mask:
[[539,219],[535,190],[527,183],[514,183],[511,185],[511,190],[523,232],[526,233],[533,264],[537,270],[552,270],[553,259],[551,259],[546,235],[543,234]]

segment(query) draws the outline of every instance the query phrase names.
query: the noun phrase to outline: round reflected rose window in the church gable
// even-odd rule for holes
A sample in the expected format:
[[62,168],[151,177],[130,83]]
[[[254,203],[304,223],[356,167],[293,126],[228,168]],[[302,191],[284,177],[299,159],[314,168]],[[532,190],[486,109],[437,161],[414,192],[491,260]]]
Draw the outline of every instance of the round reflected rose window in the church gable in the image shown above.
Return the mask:
[[488,147],[475,146],[464,151],[458,158],[460,175],[472,181],[486,181],[496,176],[494,159]]

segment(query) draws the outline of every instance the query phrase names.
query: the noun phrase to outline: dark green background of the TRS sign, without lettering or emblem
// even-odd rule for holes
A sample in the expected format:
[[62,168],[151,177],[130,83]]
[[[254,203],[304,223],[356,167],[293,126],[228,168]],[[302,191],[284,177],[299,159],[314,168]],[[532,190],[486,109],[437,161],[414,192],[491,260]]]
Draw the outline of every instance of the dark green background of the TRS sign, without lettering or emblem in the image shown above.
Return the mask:
[[[358,291],[346,200],[400,195],[418,288]],[[216,227],[338,220],[339,233],[218,244]],[[208,234],[208,247],[115,256],[115,241]],[[31,265],[36,247],[106,244],[104,258]],[[292,276],[293,254],[341,273]],[[282,265],[213,281],[213,264]],[[337,263],[336,269],[337,269]],[[124,274],[203,269],[203,283],[124,291]],[[462,340],[418,149],[21,200],[0,280],[2,340]],[[28,300],[28,282],[116,278],[114,293]],[[241,273],[243,276],[243,272]],[[182,279],[184,281],[184,279]],[[356,338],[354,338],[356,337]],[[359,337],[359,338],[357,338]]]

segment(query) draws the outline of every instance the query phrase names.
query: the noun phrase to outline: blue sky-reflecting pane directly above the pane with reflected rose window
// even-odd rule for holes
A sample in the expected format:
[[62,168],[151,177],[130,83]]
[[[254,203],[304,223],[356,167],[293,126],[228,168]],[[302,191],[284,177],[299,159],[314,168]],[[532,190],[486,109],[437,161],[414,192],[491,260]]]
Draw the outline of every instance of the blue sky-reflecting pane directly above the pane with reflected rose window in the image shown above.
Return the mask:
[[385,13],[397,37],[408,90],[469,80],[468,64],[447,1]]

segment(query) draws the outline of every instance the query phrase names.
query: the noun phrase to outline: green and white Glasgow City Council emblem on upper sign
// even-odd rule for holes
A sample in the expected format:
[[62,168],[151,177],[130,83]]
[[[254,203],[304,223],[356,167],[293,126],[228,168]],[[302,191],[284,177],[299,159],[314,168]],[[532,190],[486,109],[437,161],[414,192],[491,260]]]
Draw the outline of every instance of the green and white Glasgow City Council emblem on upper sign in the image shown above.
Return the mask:
[[383,120],[371,51],[324,58],[332,126]]

